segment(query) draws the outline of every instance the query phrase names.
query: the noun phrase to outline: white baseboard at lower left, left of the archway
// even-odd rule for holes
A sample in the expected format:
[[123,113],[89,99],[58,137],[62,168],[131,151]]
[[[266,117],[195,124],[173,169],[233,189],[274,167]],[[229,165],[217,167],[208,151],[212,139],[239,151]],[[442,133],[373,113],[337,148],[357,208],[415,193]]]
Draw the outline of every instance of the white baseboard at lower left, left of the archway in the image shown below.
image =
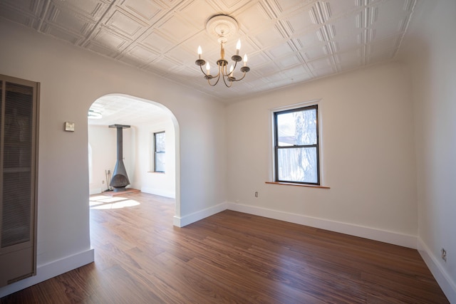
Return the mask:
[[88,251],[76,253],[73,256],[68,256],[66,258],[62,258],[61,260],[37,266],[36,276],[24,278],[24,280],[1,287],[0,298],[3,298],[5,295],[10,295],[11,293],[16,293],[16,291],[30,287],[31,285],[41,283],[55,276],[59,276],[62,273],[87,265],[93,261],[95,261],[94,251],[93,248],[90,248]]

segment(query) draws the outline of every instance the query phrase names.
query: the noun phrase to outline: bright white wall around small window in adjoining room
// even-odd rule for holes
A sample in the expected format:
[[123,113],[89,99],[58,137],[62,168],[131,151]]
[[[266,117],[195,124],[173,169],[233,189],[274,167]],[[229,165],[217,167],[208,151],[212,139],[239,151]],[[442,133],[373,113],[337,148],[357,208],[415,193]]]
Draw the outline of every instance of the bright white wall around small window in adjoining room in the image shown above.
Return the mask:
[[[133,188],[140,189],[141,192],[157,194],[175,198],[175,132],[172,121],[169,118],[160,122],[151,122],[138,125],[136,151],[138,162],[136,162],[135,183]],[[152,142],[154,132],[165,131],[165,173],[152,172]]]

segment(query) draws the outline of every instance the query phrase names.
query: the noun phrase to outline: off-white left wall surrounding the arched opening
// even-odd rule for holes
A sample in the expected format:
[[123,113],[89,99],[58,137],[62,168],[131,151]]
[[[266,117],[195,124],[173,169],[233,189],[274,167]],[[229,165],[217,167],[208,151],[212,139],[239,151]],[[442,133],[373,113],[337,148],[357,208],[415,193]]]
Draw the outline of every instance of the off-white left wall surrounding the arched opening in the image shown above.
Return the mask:
[[[224,124],[219,123],[224,120],[223,105],[189,88],[3,19],[0,36],[0,73],[41,83],[38,276],[19,285],[37,283],[40,278],[93,261],[93,252],[83,254],[91,252],[87,112],[100,96],[137,96],[160,103],[175,115],[180,158],[175,224],[185,224],[186,216],[224,202]],[[65,121],[75,122],[76,131],[64,132]],[[83,256],[82,261],[67,263],[78,256]],[[45,275],[46,269],[49,272]],[[0,296],[14,288],[20,287],[0,288]]]

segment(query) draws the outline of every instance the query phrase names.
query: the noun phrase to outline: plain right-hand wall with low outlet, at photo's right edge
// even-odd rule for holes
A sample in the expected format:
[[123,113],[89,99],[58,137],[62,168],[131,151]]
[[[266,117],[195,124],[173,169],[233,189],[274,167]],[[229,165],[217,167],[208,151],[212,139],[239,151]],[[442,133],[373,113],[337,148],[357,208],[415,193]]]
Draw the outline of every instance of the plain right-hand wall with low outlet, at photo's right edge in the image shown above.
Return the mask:
[[420,253],[456,303],[456,1],[421,5],[404,51],[413,80],[418,236]]

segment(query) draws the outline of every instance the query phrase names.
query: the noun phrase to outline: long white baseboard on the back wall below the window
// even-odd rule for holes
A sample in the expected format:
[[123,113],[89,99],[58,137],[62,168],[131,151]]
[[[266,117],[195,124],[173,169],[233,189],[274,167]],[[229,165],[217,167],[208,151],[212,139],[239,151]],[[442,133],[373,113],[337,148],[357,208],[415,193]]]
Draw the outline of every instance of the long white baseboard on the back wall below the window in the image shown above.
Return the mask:
[[290,223],[294,224],[301,224],[319,229],[335,231],[341,234],[359,236],[361,238],[382,241],[384,243],[391,243],[398,246],[404,246],[413,249],[417,248],[416,236],[410,236],[407,234],[398,234],[392,231],[373,229],[366,226],[358,226],[338,221],[330,221],[328,219],[318,219],[311,216],[291,214],[284,211],[265,209],[257,206],[248,206],[244,204],[236,204],[232,202],[227,203],[227,209],[244,212],[247,214],[264,216],[268,217],[269,219],[279,219],[281,221],[289,221]]

